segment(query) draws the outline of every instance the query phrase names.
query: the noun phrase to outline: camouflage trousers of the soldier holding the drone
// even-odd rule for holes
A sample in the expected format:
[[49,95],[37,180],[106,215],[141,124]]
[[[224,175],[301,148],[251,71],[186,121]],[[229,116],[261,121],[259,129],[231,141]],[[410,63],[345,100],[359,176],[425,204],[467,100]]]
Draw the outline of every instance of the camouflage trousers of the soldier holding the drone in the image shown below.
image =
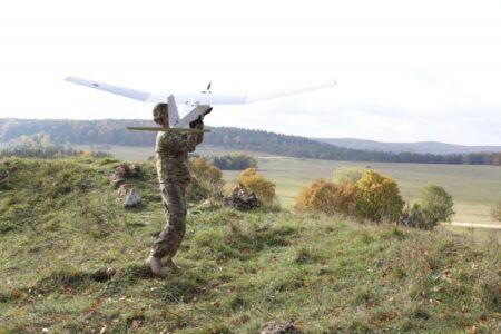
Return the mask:
[[167,225],[151,246],[150,255],[176,255],[186,232],[186,180],[160,184]]

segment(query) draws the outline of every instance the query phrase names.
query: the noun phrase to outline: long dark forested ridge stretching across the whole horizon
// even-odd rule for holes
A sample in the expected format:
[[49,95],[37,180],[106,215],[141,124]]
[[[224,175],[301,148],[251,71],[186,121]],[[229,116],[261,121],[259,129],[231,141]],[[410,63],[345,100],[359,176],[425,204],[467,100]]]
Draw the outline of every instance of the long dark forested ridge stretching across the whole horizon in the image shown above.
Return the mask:
[[[129,131],[128,126],[153,126],[149,120],[61,120],[0,119],[0,143],[26,141],[27,136],[47,135],[57,144],[112,144],[153,146],[156,132]],[[47,137],[43,136],[43,137]],[[42,137],[42,136],[38,136]],[[217,127],[205,135],[204,144],[235,150],[264,151],[273,155],[343,161],[381,161],[415,164],[500,165],[501,154],[435,155],[355,149],[298,136],[263,130]]]

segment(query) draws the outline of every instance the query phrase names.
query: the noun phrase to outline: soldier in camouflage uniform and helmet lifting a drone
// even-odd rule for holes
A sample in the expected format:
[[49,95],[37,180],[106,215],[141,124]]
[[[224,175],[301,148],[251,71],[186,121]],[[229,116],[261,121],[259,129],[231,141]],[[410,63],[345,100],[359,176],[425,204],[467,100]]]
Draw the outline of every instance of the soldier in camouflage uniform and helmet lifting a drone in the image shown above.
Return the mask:
[[[198,106],[210,112],[208,106]],[[154,109],[155,122],[168,127],[168,105],[158,104]],[[193,129],[204,129],[203,117],[189,125]],[[161,263],[173,269],[179,269],[173,262],[179,248],[186,229],[186,185],[190,179],[188,170],[188,153],[204,139],[204,132],[180,134],[174,131],[158,132],[156,154],[157,174],[160,183],[161,202],[165,208],[167,225],[151,246],[146,264],[154,275],[166,276],[166,269]]]

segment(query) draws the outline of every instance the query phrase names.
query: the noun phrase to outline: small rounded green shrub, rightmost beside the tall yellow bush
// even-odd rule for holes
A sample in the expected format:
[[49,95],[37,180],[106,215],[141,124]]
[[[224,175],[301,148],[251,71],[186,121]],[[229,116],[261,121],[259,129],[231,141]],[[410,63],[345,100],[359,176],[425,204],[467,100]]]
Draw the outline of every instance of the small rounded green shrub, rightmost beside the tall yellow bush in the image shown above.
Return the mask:
[[428,185],[421,190],[421,206],[430,224],[450,222],[454,215],[452,195],[436,185]]

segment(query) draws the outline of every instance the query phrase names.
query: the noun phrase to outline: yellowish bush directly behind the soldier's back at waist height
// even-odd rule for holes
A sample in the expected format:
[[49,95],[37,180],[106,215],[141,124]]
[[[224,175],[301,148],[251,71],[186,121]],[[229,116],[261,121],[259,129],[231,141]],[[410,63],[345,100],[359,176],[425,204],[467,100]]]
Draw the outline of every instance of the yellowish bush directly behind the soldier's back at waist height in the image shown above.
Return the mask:
[[204,157],[189,161],[191,181],[188,184],[187,198],[191,203],[223,197],[223,174]]

